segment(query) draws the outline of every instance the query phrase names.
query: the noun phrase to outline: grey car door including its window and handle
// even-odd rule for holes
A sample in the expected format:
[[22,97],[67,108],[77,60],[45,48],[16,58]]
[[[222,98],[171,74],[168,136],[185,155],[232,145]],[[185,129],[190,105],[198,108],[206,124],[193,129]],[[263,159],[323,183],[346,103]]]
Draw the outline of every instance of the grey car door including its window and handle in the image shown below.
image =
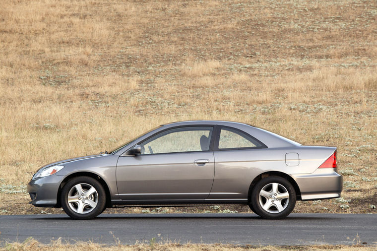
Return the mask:
[[117,186],[123,200],[205,199],[212,188],[212,126],[159,132],[143,142],[141,154],[120,156]]

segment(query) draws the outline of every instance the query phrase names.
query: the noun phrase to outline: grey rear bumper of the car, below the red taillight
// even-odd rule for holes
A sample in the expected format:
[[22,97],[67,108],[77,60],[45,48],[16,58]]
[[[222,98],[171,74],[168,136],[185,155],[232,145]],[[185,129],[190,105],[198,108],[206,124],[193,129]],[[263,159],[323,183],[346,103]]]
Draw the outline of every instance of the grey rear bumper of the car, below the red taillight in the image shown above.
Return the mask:
[[291,175],[301,191],[302,200],[330,199],[341,196],[343,176],[335,168],[318,168],[312,174]]

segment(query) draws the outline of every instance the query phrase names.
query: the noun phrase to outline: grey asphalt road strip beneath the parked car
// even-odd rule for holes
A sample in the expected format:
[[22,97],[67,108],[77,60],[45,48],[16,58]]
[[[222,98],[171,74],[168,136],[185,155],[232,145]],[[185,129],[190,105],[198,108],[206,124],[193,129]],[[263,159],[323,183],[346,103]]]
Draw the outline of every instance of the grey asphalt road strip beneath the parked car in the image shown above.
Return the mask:
[[0,216],[0,245],[33,237],[41,243],[155,242],[251,245],[377,245],[377,214],[291,214],[263,220],[255,214],[102,214],[94,220],[66,215]]

